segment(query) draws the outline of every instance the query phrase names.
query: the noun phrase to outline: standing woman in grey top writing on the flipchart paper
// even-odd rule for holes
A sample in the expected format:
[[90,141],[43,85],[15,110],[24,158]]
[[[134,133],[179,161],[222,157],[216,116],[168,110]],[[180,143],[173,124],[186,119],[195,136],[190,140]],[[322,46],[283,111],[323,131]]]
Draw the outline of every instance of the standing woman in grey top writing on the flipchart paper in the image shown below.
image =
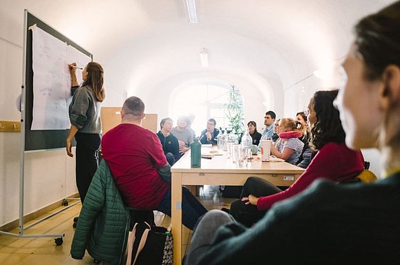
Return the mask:
[[99,63],[91,61],[82,71],[82,85],[76,76],[76,63],[69,65],[73,100],[69,106],[70,131],[66,139],[66,153],[73,157],[71,141],[75,137],[76,181],[81,202],[84,202],[99,162],[102,133],[100,109],[104,94],[104,71]]

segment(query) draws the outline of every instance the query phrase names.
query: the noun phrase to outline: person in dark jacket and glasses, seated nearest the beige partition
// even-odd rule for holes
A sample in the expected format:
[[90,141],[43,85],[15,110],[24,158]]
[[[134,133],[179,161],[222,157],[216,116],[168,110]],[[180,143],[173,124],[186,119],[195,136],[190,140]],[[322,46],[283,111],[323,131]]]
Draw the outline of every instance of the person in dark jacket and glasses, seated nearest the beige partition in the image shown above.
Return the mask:
[[166,161],[168,161],[170,166],[173,166],[173,164],[180,159],[178,138],[171,133],[172,124],[173,120],[171,118],[162,119],[160,121],[161,130],[157,133],[161,141],[162,150],[164,150]]

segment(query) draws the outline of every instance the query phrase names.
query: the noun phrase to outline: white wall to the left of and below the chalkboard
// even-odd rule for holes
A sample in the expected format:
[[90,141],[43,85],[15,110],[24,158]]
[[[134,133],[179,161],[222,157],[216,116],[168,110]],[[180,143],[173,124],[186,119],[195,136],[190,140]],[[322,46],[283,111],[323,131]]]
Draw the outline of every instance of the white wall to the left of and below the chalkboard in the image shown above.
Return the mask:
[[[22,19],[22,17],[21,17]],[[0,120],[19,121],[22,84],[22,23],[0,9]],[[19,216],[20,133],[0,133],[0,226]],[[65,150],[26,153],[24,213],[77,193],[75,161]]]

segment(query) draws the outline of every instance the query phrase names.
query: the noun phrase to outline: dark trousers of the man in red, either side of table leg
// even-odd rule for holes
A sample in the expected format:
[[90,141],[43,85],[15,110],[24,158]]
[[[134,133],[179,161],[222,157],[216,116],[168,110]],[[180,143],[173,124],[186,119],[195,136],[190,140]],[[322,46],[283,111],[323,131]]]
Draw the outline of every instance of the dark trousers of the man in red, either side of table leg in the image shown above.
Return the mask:
[[[171,217],[171,188],[166,192],[157,210]],[[190,190],[182,187],[182,224],[193,230],[198,219],[207,213],[207,209],[191,194]]]

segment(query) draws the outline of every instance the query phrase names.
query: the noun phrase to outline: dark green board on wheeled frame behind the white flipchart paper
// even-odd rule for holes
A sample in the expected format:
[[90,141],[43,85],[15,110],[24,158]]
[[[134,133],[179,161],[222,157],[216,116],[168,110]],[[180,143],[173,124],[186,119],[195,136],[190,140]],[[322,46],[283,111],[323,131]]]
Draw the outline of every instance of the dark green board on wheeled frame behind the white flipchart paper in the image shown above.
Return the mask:
[[[41,19],[35,17],[32,13],[25,10],[25,42],[24,42],[24,62],[25,62],[25,81],[22,85],[22,93],[25,93],[25,97],[22,97],[23,110],[21,111],[21,126],[24,127],[24,131],[21,133],[24,137],[25,148],[24,150],[47,150],[55,148],[64,148],[66,146],[66,137],[68,130],[30,130],[32,125],[32,110],[33,110],[33,70],[32,70],[32,30],[28,30],[30,26],[36,24],[38,28],[46,31],[53,37],[66,42],[68,45],[75,47],[80,52],[88,55],[93,59],[93,55],[77,45],[77,43],[71,41],[60,32],[49,26]],[[51,115],[51,113],[48,113]],[[75,143],[74,143],[75,144]]]

